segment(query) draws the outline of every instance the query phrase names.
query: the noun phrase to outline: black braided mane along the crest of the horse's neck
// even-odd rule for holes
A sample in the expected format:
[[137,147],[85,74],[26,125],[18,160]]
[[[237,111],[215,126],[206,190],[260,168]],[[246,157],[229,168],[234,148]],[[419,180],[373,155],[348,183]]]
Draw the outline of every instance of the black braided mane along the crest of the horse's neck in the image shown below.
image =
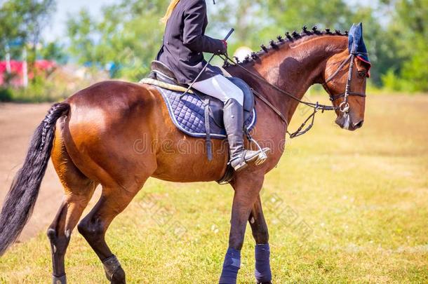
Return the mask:
[[[302,28],[302,32],[299,34],[296,31],[292,32],[286,32],[286,37],[283,38],[283,36],[279,35],[276,36],[277,41],[271,40],[269,41],[269,45],[265,46],[262,44],[260,46],[260,50],[258,52],[253,52],[250,55],[247,55],[246,58],[240,62],[238,58],[235,57],[236,62],[239,65],[246,65],[248,63],[253,63],[256,60],[259,60],[264,55],[267,55],[268,53],[275,52],[276,50],[279,50],[281,46],[284,46],[286,44],[295,43],[300,41],[301,39],[307,38],[308,36],[325,36],[325,35],[336,35],[336,36],[348,36],[348,31],[345,31],[343,34],[340,32],[340,30],[335,29],[335,32],[331,32],[330,29],[325,29],[324,31],[320,31],[318,27],[312,27],[312,30],[307,29],[307,26],[304,26]],[[228,67],[229,63],[227,62],[225,66]]]

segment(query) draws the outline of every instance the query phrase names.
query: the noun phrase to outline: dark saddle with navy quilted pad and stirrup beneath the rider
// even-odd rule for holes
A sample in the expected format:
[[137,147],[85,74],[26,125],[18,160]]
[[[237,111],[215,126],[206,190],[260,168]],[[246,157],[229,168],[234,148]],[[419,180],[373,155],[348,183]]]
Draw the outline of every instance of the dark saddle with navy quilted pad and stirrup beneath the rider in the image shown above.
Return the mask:
[[[257,121],[253,91],[242,79],[236,77],[227,77],[227,79],[243,91],[243,130],[253,141],[249,134]],[[189,86],[178,83],[173,72],[159,61],[152,62],[152,72],[140,83],[155,86],[159,90],[171,120],[180,131],[192,137],[206,139],[207,156],[211,161],[213,158],[211,139],[227,138],[223,122],[223,102],[195,89],[185,93]],[[218,183],[227,184],[232,180],[233,175],[233,168],[229,165],[225,176]]]

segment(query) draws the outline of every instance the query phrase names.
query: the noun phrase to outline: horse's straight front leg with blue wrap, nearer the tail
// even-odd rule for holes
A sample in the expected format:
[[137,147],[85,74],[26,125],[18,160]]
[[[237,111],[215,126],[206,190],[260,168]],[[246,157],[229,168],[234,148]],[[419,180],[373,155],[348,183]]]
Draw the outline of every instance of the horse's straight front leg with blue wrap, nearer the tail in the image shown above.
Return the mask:
[[250,173],[237,175],[232,182],[234,201],[230,221],[229,248],[223,262],[220,284],[235,284],[241,266],[241,248],[250,212],[262,189],[264,177]]

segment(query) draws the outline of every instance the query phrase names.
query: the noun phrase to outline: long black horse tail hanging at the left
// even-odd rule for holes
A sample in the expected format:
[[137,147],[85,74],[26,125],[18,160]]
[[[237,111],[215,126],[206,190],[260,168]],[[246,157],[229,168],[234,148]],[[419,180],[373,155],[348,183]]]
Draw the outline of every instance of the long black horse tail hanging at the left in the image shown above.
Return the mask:
[[68,114],[69,109],[70,105],[65,102],[54,104],[32,137],[24,165],[15,175],[1,210],[0,256],[20,236],[32,215],[41,180],[51,157],[55,123],[61,116]]

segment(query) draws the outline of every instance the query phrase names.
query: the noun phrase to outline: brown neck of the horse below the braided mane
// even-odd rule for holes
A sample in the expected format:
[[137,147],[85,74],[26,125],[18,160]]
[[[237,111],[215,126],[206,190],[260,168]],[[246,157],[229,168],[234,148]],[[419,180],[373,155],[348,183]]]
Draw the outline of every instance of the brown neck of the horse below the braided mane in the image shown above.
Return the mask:
[[[310,86],[322,82],[327,60],[345,48],[344,40],[337,40],[337,36],[333,37],[335,41],[329,38],[330,36],[319,36],[307,41],[297,41],[295,44],[290,43],[279,50],[269,51],[253,66],[247,66],[272,85],[302,99]],[[248,72],[237,69],[235,72],[238,73],[236,76],[263,93],[288,121],[291,120],[299,102],[261,83]]]

